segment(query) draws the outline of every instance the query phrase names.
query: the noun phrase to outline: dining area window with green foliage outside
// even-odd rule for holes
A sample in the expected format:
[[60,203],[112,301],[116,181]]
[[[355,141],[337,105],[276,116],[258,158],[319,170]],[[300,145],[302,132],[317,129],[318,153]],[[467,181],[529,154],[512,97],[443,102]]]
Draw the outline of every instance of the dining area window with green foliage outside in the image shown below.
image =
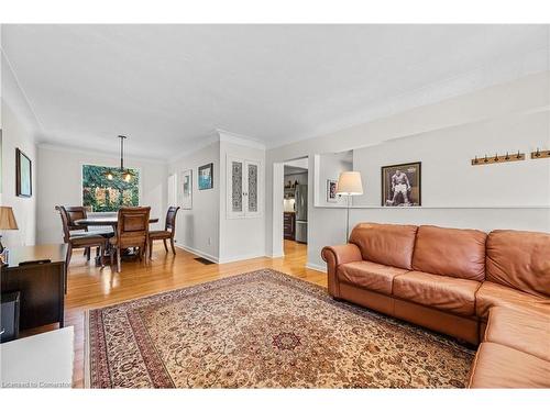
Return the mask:
[[[112,170],[114,178],[109,180],[107,171]],[[140,204],[140,171],[133,174],[130,181],[124,181],[112,167],[82,165],[82,205],[91,212],[114,212],[120,207]]]

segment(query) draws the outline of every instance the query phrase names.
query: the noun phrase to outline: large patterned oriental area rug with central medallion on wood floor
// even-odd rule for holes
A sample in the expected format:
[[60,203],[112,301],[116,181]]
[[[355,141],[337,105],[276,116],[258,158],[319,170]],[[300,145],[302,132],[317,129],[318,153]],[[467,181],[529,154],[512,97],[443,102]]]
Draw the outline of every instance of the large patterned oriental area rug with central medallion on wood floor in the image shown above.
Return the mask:
[[462,388],[473,352],[271,269],[91,310],[91,388]]

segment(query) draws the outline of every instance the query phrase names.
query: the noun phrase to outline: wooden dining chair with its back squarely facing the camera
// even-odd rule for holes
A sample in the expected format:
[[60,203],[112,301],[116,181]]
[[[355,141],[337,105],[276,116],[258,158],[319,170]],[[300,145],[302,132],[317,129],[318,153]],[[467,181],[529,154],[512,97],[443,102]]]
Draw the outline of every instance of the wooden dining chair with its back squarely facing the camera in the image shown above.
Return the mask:
[[[138,247],[139,257],[145,257],[147,261],[148,244],[148,215],[151,208],[120,208],[117,223],[117,235],[109,242],[117,255],[117,271],[121,270],[121,253],[128,247]],[[111,265],[113,265],[113,253],[111,253]]]

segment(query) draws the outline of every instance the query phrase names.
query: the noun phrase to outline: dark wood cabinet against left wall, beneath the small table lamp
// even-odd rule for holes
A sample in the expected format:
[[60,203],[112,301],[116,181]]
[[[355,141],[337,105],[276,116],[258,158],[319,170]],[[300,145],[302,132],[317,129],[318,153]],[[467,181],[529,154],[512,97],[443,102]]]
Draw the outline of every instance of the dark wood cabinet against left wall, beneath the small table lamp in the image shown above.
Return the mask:
[[[66,245],[13,247],[1,268],[1,290],[20,292],[20,330],[64,323]],[[43,263],[40,263],[43,261]]]

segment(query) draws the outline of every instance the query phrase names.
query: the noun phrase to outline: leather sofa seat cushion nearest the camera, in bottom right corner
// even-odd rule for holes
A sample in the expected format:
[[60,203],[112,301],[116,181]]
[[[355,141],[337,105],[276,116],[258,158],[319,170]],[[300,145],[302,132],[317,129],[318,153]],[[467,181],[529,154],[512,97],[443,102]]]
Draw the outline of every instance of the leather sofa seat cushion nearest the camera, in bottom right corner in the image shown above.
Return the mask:
[[550,363],[492,342],[480,345],[470,388],[549,388]]

